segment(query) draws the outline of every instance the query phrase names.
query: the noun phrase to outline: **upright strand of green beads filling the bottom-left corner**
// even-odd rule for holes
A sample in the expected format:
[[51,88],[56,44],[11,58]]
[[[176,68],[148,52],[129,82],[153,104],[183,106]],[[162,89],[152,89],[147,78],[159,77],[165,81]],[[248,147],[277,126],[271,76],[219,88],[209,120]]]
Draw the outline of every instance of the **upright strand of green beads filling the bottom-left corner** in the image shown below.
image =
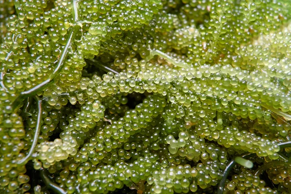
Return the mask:
[[26,131],[21,116],[16,113],[4,115],[0,127],[0,190],[5,193],[25,193],[30,190],[25,165],[17,165],[26,148]]

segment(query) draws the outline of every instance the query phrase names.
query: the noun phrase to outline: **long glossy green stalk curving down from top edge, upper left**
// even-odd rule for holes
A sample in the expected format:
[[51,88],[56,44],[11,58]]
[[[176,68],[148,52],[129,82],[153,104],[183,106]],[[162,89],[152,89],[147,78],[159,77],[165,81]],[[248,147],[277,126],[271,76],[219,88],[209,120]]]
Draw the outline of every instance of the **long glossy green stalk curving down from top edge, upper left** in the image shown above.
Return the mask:
[[[73,16],[74,16],[74,21],[76,22],[76,20],[78,21],[78,3],[76,0],[73,0]],[[41,82],[40,84],[34,86],[33,88],[27,90],[27,91],[23,91],[20,92],[19,96],[16,98],[16,100],[14,100],[14,102],[12,103],[12,108],[13,110],[16,110],[16,108],[21,104],[21,102],[23,101],[23,99],[30,97],[32,95],[35,95],[37,92],[43,90],[45,87],[47,87],[47,85],[53,81],[53,79],[60,73],[62,67],[65,64],[65,59],[68,55],[68,50],[71,46],[71,43],[73,42],[73,39],[77,33],[77,31],[79,30],[80,26],[79,25],[73,25],[69,31],[69,36],[67,38],[66,44],[65,44],[65,48],[62,51],[60,60],[58,62],[58,64],[56,65],[54,71],[49,75],[49,79],[47,79],[46,81]]]

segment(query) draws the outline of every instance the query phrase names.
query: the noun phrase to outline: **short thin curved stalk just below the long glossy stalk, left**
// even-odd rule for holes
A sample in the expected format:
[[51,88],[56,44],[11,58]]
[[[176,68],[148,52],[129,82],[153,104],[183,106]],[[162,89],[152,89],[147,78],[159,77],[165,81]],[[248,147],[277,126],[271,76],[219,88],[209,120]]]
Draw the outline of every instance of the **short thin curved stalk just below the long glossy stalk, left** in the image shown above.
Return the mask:
[[34,152],[34,149],[36,147],[36,144],[37,144],[38,136],[40,133],[40,127],[41,127],[41,115],[42,115],[41,103],[42,103],[42,100],[39,99],[38,97],[36,97],[36,101],[37,101],[37,120],[36,120],[36,127],[35,127],[35,131],[34,131],[34,136],[33,136],[33,140],[32,140],[32,146],[31,146],[28,154],[23,159],[17,161],[18,165],[24,165],[30,160],[30,158]]

